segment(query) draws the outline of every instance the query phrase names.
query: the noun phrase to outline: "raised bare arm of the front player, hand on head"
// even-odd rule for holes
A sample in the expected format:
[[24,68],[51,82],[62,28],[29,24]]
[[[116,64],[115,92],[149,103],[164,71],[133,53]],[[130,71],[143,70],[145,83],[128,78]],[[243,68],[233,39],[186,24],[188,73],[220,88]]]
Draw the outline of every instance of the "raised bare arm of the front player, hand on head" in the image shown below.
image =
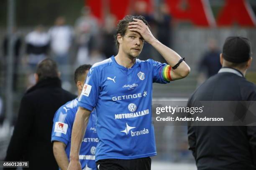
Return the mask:
[[[133,20],[134,22],[129,23],[130,26],[128,27],[131,31],[136,31],[140,33],[143,39],[149,44],[151,44],[164,57],[164,59],[171,67],[173,67],[179,62],[179,60],[182,57],[180,57],[179,54],[177,54],[177,52],[175,52],[174,50],[170,49],[169,47],[166,47],[161,42],[159,42],[159,40],[157,40],[153,36],[148,26],[145,23],[143,23],[142,20],[138,20],[135,18]],[[190,67],[187,65],[186,62],[183,61],[180,63],[177,69],[171,70],[172,80],[182,79],[186,77],[189,74],[189,72]]]

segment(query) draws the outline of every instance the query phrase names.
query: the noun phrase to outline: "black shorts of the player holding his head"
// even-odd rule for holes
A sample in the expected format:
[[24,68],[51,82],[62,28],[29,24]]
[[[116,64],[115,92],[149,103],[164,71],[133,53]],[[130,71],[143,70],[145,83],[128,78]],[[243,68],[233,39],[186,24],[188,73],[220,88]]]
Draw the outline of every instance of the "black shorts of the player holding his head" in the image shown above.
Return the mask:
[[103,159],[96,162],[97,170],[151,170],[151,158],[133,160]]

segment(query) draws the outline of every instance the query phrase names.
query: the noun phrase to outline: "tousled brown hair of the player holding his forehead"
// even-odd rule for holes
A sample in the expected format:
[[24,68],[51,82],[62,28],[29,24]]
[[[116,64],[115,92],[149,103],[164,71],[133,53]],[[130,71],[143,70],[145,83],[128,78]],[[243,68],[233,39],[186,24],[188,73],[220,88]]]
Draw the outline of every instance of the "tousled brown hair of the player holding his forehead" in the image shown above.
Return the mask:
[[131,23],[131,22],[134,21],[133,18],[142,20],[143,23],[145,23],[145,24],[148,26],[148,28],[149,28],[149,24],[148,24],[148,22],[145,20],[145,17],[143,17],[143,16],[141,16],[141,15],[140,15],[140,16],[126,15],[126,16],[123,18],[123,20],[120,20],[120,21],[118,22],[117,29],[116,29],[116,34],[115,34],[115,36],[114,36],[114,38],[115,38],[115,45],[116,45],[118,48],[119,48],[119,42],[118,42],[118,40],[117,40],[117,35],[120,34],[122,37],[125,35],[125,32],[126,32],[126,30],[127,30],[127,28],[128,28],[129,23]]

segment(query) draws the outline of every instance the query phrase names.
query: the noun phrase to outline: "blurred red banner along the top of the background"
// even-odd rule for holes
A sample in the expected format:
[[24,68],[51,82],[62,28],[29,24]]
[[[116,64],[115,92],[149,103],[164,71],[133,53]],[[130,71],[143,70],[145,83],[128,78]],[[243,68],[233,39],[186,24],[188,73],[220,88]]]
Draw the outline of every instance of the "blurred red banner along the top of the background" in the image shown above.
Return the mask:
[[[91,7],[92,14],[100,21],[104,13],[114,14],[118,20],[134,12],[134,4],[143,1],[147,4],[147,13],[152,13],[154,0],[86,0]],[[217,22],[212,15],[208,0],[166,0],[170,14],[178,21],[189,21],[197,26],[212,27],[232,26],[237,23],[241,26],[255,27],[256,18],[247,0],[225,0],[225,5],[218,13]]]

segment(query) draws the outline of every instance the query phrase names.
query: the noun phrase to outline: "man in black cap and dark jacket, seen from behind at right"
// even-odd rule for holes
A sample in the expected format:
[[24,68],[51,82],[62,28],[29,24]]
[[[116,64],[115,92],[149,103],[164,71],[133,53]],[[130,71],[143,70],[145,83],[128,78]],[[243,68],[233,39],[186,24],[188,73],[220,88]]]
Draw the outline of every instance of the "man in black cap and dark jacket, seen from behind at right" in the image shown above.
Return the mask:
[[[198,101],[256,101],[256,86],[244,78],[251,60],[249,40],[228,37],[220,54],[223,67],[194,92],[188,107]],[[255,126],[189,126],[188,140],[198,170],[256,169]]]

